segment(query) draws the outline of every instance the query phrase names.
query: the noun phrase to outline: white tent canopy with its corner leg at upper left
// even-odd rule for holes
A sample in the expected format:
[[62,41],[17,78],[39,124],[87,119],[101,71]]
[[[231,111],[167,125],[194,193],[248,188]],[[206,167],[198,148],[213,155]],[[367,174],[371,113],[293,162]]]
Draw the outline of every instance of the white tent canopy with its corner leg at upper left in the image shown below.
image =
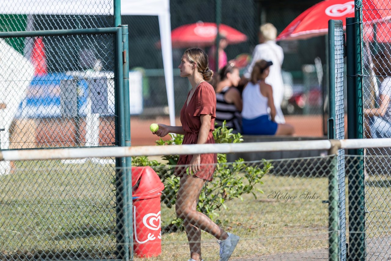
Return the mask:
[[[106,7],[106,8],[105,8]],[[111,7],[109,9],[108,7]],[[113,14],[113,0],[1,0],[3,14]],[[157,15],[169,105],[170,124],[175,126],[174,77],[169,0],[121,0],[122,15]],[[129,47],[131,48],[131,47]]]

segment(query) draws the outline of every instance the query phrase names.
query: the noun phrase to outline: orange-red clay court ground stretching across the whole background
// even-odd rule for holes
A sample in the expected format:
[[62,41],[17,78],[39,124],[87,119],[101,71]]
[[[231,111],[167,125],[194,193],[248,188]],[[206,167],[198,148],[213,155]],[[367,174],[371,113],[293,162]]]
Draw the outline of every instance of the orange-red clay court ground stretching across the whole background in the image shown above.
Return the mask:
[[[346,119],[346,117],[345,117]],[[296,137],[319,137],[323,135],[323,119],[321,115],[289,115],[285,117],[288,124],[294,126]],[[153,146],[158,140],[149,130],[152,123],[169,124],[169,117],[139,117],[131,116],[131,145],[132,146]],[[181,125],[179,117],[176,118],[176,125]],[[14,130],[11,132],[10,148],[39,148],[39,147],[72,147],[77,146],[80,140],[81,146],[86,142],[86,122],[79,123],[79,131],[76,131],[74,119],[22,119],[14,123]],[[79,133],[79,138],[76,134]],[[114,121],[112,117],[100,118],[99,145],[111,146],[114,140]],[[170,136],[164,137],[170,139]]]

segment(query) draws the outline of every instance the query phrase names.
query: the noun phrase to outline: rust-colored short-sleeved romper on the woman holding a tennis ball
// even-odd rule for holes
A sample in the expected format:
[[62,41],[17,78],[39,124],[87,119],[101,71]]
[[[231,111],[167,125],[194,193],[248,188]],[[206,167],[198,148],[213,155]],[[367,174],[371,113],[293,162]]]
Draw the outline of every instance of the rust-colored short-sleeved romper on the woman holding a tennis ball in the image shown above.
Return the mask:
[[[187,99],[189,94],[187,94]],[[212,85],[206,81],[202,82],[199,86],[197,86],[189,104],[186,106],[187,99],[181,109],[181,123],[183,130],[185,131],[185,137],[183,138],[182,144],[197,144],[198,133],[201,128],[201,120],[199,117],[201,114],[212,115],[206,143],[214,144],[215,139],[213,138],[212,131],[215,128],[216,95]],[[178,165],[188,165],[192,157],[193,155],[181,155],[178,160]],[[216,163],[217,154],[201,154],[201,170],[194,173],[194,175],[204,180],[212,180],[213,172],[216,169]],[[187,167],[177,167],[175,175],[182,176],[186,174],[186,168]]]

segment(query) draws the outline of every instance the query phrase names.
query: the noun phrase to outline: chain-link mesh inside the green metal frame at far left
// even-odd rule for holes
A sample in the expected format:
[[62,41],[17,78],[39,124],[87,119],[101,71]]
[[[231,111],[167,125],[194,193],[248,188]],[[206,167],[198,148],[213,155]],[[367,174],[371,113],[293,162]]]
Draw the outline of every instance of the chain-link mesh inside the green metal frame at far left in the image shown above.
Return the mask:
[[[2,45],[0,52],[10,54],[10,66],[4,67],[7,70],[1,73],[2,121],[8,124],[2,132],[5,141],[2,149],[118,146],[114,122],[118,121],[115,95],[118,95],[118,82],[122,81],[116,67],[121,63],[118,42],[122,44],[122,29],[19,32],[17,35],[39,36],[36,39],[52,45],[53,54],[47,52],[47,58],[53,60],[48,67],[54,72],[34,76],[27,59],[15,54],[8,44]],[[83,47],[92,48],[105,61],[101,70],[83,70],[78,61],[70,59]],[[42,59],[45,58],[40,56],[38,61]],[[15,112],[17,117],[13,119]],[[9,134],[11,139],[7,142]],[[85,159],[2,161],[1,175],[7,179],[1,189],[2,223],[13,229],[1,229],[4,236],[1,259],[111,259],[128,254],[124,251],[127,237],[122,228],[126,216],[121,208],[121,204],[126,204],[121,200],[124,183],[122,172],[112,175],[114,163],[113,158],[88,162]],[[96,179],[90,180],[90,175]],[[84,182],[99,189],[83,192]],[[99,203],[91,206],[83,194],[90,194],[88,197]],[[112,204],[117,212],[107,207]],[[69,211],[71,205],[73,209]],[[68,218],[66,212],[72,217]],[[91,219],[89,213],[93,212],[96,216]],[[21,232],[23,224],[29,224],[29,230]],[[108,236],[110,229],[114,232]],[[93,234],[101,237],[90,239]],[[84,239],[76,242],[75,237]],[[115,249],[106,248],[111,241],[120,244]],[[81,248],[88,251],[78,251]]]

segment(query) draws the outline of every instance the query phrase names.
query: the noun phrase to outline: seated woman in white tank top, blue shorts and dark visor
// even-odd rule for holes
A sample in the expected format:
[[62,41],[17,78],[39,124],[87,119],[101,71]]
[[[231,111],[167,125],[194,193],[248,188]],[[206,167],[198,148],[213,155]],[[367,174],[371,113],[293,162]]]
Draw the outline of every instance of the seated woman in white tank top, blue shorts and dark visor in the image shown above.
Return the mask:
[[242,132],[245,135],[292,135],[294,132],[291,125],[274,121],[276,107],[273,102],[273,89],[265,83],[272,64],[271,61],[257,61],[251,72],[251,81],[244,87]]

